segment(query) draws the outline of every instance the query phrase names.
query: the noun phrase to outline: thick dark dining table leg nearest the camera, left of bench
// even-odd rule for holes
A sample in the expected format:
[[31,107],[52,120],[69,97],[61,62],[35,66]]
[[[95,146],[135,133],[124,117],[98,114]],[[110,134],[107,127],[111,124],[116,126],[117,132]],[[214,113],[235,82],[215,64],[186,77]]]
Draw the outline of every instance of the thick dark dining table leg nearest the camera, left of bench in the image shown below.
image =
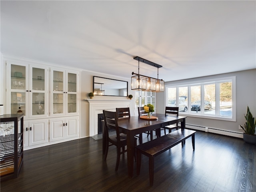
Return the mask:
[[127,133],[127,166],[129,178],[133,176],[134,134]]

